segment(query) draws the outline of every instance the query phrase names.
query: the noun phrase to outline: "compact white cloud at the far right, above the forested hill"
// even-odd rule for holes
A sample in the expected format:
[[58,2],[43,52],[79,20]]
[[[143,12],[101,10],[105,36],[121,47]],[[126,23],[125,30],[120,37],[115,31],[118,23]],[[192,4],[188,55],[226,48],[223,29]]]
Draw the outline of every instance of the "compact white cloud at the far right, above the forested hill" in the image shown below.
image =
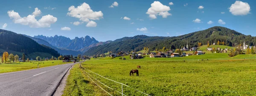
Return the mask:
[[250,13],[250,5],[242,1],[236,1],[230,6],[229,9],[230,9],[229,11],[233,15],[247,15]]

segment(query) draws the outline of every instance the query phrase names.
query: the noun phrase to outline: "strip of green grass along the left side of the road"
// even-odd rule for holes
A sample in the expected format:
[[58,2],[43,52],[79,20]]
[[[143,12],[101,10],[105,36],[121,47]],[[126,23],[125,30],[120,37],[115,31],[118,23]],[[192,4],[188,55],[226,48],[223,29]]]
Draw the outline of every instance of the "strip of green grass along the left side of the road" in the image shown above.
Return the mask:
[[[15,71],[22,71],[22,70],[30,70],[30,69],[36,69],[39,67],[49,67],[53,65],[58,64],[66,64],[65,62],[62,62],[62,60],[55,60],[55,61],[31,61],[30,62],[17,62],[17,63],[0,63],[0,73],[7,73],[7,72],[15,72]],[[52,63],[54,62],[54,63]],[[33,64],[37,63],[37,64]],[[44,64],[43,64],[44,63]]]

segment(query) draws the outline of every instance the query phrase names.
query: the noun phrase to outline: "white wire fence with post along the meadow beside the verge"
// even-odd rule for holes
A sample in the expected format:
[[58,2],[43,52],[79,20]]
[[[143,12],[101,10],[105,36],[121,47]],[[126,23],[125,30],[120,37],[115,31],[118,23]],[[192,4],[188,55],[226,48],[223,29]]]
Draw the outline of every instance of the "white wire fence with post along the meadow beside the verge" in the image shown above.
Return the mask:
[[[82,67],[81,64],[80,64],[80,68],[83,68],[84,70],[88,70],[88,69]],[[111,88],[111,87],[107,86],[106,84],[103,84],[103,83],[102,83],[101,81],[99,81],[98,79],[95,79],[90,73],[88,73],[88,72],[86,72],[86,71],[84,71],[84,70],[82,70],[83,73],[84,73],[91,81],[93,81],[93,79],[94,79],[95,81],[98,81],[100,84],[104,85],[105,87],[108,87],[109,89],[111,89],[111,90],[113,90],[113,91],[116,91],[116,92],[122,94],[122,96],[126,96],[126,95],[123,93],[123,86],[126,86],[126,87],[128,87],[128,88],[131,88],[131,89],[133,89],[133,90],[135,90],[135,91],[137,91],[137,92],[140,92],[140,93],[142,93],[142,94],[144,94],[144,95],[146,95],[146,96],[150,96],[150,95],[148,95],[148,94],[146,94],[146,93],[143,93],[142,91],[137,90],[137,89],[135,89],[135,88],[133,88],[133,87],[130,87],[130,86],[126,85],[126,84],[122,84],[122,83],[120,83],[120,82],[118,82],[118,81],[114,81],[114,80],[108,79],[108,78],[106,78],[106,77],[104,77],[104,76],[101,76],[101,75],[99,75],[99,74],[97,74],[97,73],[94,73],[94,72],[91,71],[91,70],[88,70],[88,71],[90,71],[91,73],[93,73],[93,74],[95,74],[95,75],[97,75],[97,76],[100,76],[100,77],[102,77],[102,78],[104,78],[104,79],[107,79],[107,80],[109,80],[109,81],[113,81],[113,82],[115,82],[115,83],[117,83],[117,84],[121,84],[121,86],[122,86],[122,91],[119,92],[118,90],[115,90],[114,88]],[[95,81],[93,81],[93,82],[94,82],[97,86],[99,86],[99,84],[97,84]],[[99,86],[99,87],[100,87],[100,86]],[[104,90],[102,87],[100,87],[100,88],[101,88],[102,90]],[[111,95],[108,91],[106,91],[106,90],[104,90],[104,91],[105,91],[106,93],[108,93],[110,96],[113,96],[113,95]]]

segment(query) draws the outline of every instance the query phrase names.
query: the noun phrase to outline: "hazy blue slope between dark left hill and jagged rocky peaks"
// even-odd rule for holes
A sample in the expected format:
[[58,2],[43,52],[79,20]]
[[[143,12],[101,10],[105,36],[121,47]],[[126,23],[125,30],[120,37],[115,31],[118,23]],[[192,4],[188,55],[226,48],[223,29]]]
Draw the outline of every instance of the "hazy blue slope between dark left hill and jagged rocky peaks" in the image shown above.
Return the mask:
[[78,55],[78,54],[82,54],[80,51],[74,51],[74,50],[70,50],[70,49],[59,49],[57,47],[52,46],[51,44],[49,44],[47,41],[44,41],[43,39],[40,38],[34,38],[28,35],[25,35],[26,37],[29,37],[31,39],[33,39],[34,41],[36,41],[38,44],[43,44],[46,45],[48,47],[51,47],[52,49],[55,49],[56,51],[58,51],[61,55]]

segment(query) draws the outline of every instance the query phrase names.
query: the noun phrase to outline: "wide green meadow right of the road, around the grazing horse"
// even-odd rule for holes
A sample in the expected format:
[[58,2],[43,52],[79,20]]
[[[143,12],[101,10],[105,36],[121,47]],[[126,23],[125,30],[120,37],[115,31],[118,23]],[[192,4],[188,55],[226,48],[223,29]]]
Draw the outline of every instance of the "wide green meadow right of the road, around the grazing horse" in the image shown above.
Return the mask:
[[[85,61],[82,66],[151,96],[255,96],[256,63],[254,62],[256,62],[254,55],[237,55],[229,58],[227,53],[215,53],[180,58],[143,58],[138,60],[101,58]],[[129,76],[130,70],[137,69],[137,65],[141,66],[141,69],[138,69],[140,75]],[[73,69],[68,77],[68,82],[85,79],[88,83],[80,81],[79,84],[76,84],[78,88],[68,84],[64,96],[77,96],[75,93],[72,94],[71,90],[84,91],[84,88],[94,85],[85,76],[75,77],[80,73],[81,70]],[[120,84],[91,75],[114,90],[121,91]],[[97,83],[99,84],[99,82]],[[102,84],[100,85],[103,87]],[[93,92],[92,96],[101,96],[105,93],[99,91],[101,90],[99,87],[95,87],[94,85],[89,88],[90,92]],[[121,95],[107,87],[103,88],[114,96]],[[97,95],[96,92],[99,92],[100,95]],[[124,93],[128,96],[143,95],[128,87],[124,87]],[[105,93],[105,95],[107,94]]]

